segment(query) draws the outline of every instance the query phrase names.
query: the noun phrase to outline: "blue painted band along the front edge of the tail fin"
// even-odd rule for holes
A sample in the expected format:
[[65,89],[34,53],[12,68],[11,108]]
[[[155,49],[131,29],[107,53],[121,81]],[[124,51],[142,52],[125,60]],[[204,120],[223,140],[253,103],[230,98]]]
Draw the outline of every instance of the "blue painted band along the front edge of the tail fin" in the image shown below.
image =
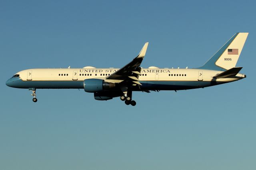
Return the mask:
[[219,51],[217,51],[203,66],[199,67],[198,69],[206,69],[206,70],[220,70],[226,71],[226,69],[216,66],[216,61],[220,58],[222,53],[228,48],[228,46],[232,43],[232,41],[236,38],[238,33],[235,33],[233,37],[231,37],[225,45],[223,45]]

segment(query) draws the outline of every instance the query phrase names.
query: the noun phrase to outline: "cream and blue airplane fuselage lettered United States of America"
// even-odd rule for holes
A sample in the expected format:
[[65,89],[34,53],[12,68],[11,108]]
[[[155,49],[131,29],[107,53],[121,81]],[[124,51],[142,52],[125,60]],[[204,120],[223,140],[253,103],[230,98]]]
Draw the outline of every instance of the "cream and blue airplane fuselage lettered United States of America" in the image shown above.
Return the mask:
[[[97,78],[105,82],[119,83],[120,80],[106,80],[119,68],[36,68],[17,72],[18,77],[10,78],[6,84],[14,88],[84,88],[84,80]],[[214,78],[223,71],[175,68],[142,68],[140,88],[133,90],[188,90],[233,82],[245,78],[238,73],[229,78]]]

